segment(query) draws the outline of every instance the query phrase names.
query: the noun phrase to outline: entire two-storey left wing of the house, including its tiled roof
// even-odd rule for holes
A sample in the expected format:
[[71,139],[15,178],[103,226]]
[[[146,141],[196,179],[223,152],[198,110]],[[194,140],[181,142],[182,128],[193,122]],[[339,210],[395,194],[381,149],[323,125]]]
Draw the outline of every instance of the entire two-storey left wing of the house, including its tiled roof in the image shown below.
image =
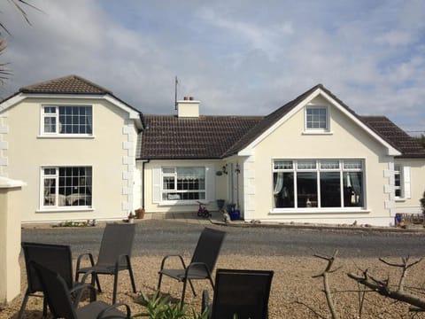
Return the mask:
[[22,222],[116,220],[133,207],[141,114],[78,76],[0,105],[0,174],[25,180]]

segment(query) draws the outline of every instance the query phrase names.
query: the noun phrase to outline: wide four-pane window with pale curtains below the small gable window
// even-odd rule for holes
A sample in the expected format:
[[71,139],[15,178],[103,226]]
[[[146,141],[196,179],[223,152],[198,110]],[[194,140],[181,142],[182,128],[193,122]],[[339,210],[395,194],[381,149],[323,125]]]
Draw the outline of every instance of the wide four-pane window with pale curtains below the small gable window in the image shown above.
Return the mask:
[[361,159],[275,159],[274,208],[363,207]]

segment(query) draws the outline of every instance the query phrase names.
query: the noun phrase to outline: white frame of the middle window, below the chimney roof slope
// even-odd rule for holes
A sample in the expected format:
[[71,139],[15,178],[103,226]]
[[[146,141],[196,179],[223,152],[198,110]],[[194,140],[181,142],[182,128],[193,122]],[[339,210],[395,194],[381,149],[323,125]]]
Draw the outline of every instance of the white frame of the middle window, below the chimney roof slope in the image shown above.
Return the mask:
[[[202,168],[204,169],[204,186],[205,189],[198,189],[198,190],[177,190],[177,168]],[[165,170],[168,170],[169,172],[164,172]],[[171,172],[173,170],[173,172]],[[165,189],[165,184],[164,184],[164,177],[174,177],[174,189]],[[169,203],[169,204],[193,204],[196,203],[197,200],[201,201],[201,202],[205,202],[207,200],[208,197],[208,193],[207,193],[207,167],[205,166],[175,166],[175,167],[161,167],[160,170],[160,200],[163,203]],[[200,199],[181,199],[181,198],[172,198],[172,199],[164,199],[164,194],[165,193],[189,193],[189,192],[204,192],[205,193],[205,198],[200,198]]]

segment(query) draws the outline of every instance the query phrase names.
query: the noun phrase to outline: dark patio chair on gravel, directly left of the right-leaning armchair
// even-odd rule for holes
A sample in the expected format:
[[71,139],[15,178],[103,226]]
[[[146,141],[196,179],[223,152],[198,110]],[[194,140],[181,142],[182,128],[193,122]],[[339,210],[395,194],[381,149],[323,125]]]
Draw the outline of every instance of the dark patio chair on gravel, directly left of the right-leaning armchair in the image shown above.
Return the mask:
[[[91,271],[91,283],[94,285],[96,279],[97,289],[102,292],[98,275],[113,275],[112,303],[115,303],[117,299],[118,273],[120,270],[128,269],[133,292],[136,292],[135,277],[133,276],[130,261],[134,238],[135,224],[106,224],[96,264],[91,253],[81,254],[77,259],[75,280],[78,280],[80,274]],[[85,256],[89,257],[90,266],[82,268],[81,261]]]

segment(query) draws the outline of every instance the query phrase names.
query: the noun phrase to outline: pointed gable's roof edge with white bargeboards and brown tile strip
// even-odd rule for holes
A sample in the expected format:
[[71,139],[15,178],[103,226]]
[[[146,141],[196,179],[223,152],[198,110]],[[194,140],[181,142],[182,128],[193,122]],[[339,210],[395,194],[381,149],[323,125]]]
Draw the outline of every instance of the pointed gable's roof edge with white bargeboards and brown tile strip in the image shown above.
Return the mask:
[[283,105],[281,108],[274,111],[274,113],[267,115],[267,117],[260,122],[257,127],[251,129],[251,132],[249,132],[247,136],[243,136],[243,138],[227,152],[226,156],[234,155],[236,153],[241,156],[251,155],[251,150],[256,144],[259,144],[259,142],[271,134],[274,129],[287,121],[292,114],[297,113],[305,105],[312,101],[314,97],[318,97],[319,95],[325,97],[330,104],[338,108],[348,118],[352,119],[352,121],[359,125],[360,128],[367,131],[371,137],[383,144],[383,146],[387,148],[389,155],[401,155],[401,152],[399,152],[396,147],[390,144],[385,138],[383,138],[383,136],[377,134],[375,130],[367,126],[367,124],[361,120],[361,117],[352,111],[349,106],[345,105],[344,102],[338,99],[322,84],[318,84],[312,89],[308,89],[305,93],[290,101],[286,105]]

